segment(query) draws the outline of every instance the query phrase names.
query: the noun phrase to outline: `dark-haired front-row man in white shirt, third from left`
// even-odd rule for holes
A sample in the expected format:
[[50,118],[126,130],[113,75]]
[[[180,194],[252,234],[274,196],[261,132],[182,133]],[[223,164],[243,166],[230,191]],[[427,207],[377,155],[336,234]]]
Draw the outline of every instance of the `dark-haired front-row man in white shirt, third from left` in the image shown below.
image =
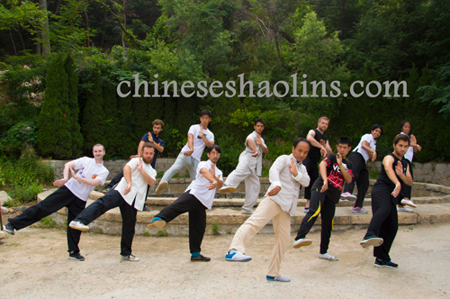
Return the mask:
[[217,187],[223,185],[222,172],[216,167],[220,158],[220,147],[208,147],[208,161],[198,164],[195,180],[174,203],[167,205],[148,223],[148,230],[163,228],[182,213],[189,213],[189,248],[191,261],[210,261],[203,257],[201,245],[206,228],[206,209],[211,210]]

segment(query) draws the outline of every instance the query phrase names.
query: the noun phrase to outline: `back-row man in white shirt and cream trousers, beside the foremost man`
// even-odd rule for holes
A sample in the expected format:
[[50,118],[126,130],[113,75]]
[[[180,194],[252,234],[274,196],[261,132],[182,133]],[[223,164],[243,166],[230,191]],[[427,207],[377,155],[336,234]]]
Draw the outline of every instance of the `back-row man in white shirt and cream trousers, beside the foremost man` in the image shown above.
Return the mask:
[[257,196],[259,195],[259,178],[261,177],[261,169],[263,168],[263,152],[268,154],[269,150],[266,143],[261,137],[261,133],[265,128],[265,122],[257,118],[254,129],[247,136],[246,149],[240,154],[238,167],[234,169],[223,186],[220,193],[235,192],[239,183],[245,179],[246,184],[246,201],[242,206],[242,213],[253,213],[253,206],[257,204]]

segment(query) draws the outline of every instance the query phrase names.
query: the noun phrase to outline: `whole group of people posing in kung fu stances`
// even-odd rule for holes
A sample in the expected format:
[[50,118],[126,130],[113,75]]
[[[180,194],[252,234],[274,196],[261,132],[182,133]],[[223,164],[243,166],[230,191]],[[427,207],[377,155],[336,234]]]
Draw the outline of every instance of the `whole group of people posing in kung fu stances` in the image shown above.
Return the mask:
[[[251,257],[245,254],[250,240],[256,236],[268,222],[272,221],[275,230],[275,246],[269,263],[266,279],[268,281],[288,282],[290,279],[280,274],[281,260],[288,248],[291,236],[291,216],[296,214],[297,202],[302,186],[305,189],[305,204],[301,227],[293,242],[293,248],[311,245],[306,235],[321,215],[321,238],[319,258],[338,260],[328,252],[336,204],[339,199],[356,200],[354,213],[367,213],[363,209],[365,193],[369,187],[366,167],[368,159],[375,160],[375,140],[383,133],[383,127],[374,124],[370,134],[365,134],[349,158],[352,149],[347,137],[338,139],[337,153],[333,153],[324,132],[329,126],[327,117],[320,117],[317,129],[308,132],[307,138],[293,141],[290,155],[275,159],[269,170],[271,186],[257,209],[262,170],[262,155],[267,154],[266,143],[261,136],[266,123],[257,119],[254,129],[247,136],[245,150],[238,159],[238,166],[227,179],[217,168],[221,149],[214,144],[214,134],[208,129],[211,112],[202,110],[200,124],[194,124],[187,133],[187,143],[159,182],[155,193],[160,195],[168,186],[171,177],[181,168],[188,168],[192,183],[184,194],[174,203],[163,208],[151,222],[148,230],[163,228],[182,213],[189,213],[189,246],[191,261],[210,261],[202,255],[202,238],[206,228],[206,210],[211,210],[216,190],[220,193],[236,191],[240,182],[245,181],[246,199],[241,213],[249,214],[234,235],[229,250],[225,255],[227,261],[246,262]],[[67,207],[67,243],[69,258],[84,260],[80,255],[78,243],[81,231],[89,230],[89,223],[114,207],[120,207],[122,218],[121,259],[139,261],[131,252],[135,233],[136,215],[145,210],[145,200],[150,186],[155,185],[157,172],[155,163],[157,153],[164,150],[165,142],[159,138],[164,122],[155,120],[152,132],[146,133],[139,142],[138,153],[130,156],[119,175],[105,186],[103,197],[85,208],[86,200],[95,185],[103,185],[109,172],[103,167],[105,150],[103,145],[95,144],[94,159],[87,157],[67,162],[63,178],[53,185],[58,190],[47,196],[39,204],[26,209],[17,217],[8,219],[4,231],[14,235],[43,217]],[[397,211],[408,211],[406,205],[415,207],[410,200],[412,185],[413,152],[420,150],[414,135],[410,134],[410,122],[401,122],[401,134],[393,140],[393,152],[383,159],[380,176],[372,189],[373,218],[361,245],[374,246],[374,266],[397,267],[391,261],[389,251],[398,230]],[[207,161],[201,161],[202,152],[207,149]],[[323,157],[320,161],[320,158]],[[318,168],[319,163],[319,168]],[[75,173],[73,168],[78,171]],[[344,186],[345,183],[345,186]],[[353,189],[357,186],[357,195]],[[344,193],[343,192],[344,188]],[[341,194],[342,193],[342,194]]]

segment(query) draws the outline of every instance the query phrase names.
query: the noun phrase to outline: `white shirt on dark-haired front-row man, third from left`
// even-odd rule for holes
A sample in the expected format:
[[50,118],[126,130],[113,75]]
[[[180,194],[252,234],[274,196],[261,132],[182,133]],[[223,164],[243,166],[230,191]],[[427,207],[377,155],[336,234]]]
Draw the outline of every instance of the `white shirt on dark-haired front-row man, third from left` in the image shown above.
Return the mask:
[[[186,191],[190,190],[190,194],[195,196],[208,210],[211,210],[212,202],[214,201],[214,195],[216,194],[216,189],[208,190],[208,186],[211,184],[206,177],[203,177],[200,169],[206,168],[206,170],[211,169],[211,160],[202,161],[197,167],[197,176],[195,180],[189,185]],[[216,167],[216,177],[223,180],[222,172]]]

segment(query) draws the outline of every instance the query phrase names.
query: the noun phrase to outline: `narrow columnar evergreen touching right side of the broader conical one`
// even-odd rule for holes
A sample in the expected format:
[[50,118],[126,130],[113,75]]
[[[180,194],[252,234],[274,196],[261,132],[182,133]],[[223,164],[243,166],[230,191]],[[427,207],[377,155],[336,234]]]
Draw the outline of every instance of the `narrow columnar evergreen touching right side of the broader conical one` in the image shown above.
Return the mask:
[[78,76],[74,66],[74,59],[67,55],[64,64],[67,74],[67,107],[70,122],[70,139],[72,141],[72,158],[77,158],[82,151],[83,135],[80,132],[80,124],[78,123]]

